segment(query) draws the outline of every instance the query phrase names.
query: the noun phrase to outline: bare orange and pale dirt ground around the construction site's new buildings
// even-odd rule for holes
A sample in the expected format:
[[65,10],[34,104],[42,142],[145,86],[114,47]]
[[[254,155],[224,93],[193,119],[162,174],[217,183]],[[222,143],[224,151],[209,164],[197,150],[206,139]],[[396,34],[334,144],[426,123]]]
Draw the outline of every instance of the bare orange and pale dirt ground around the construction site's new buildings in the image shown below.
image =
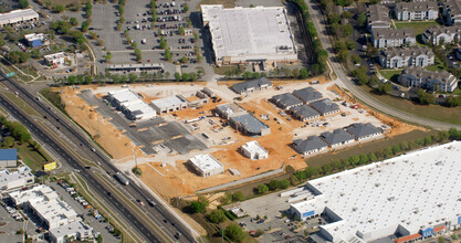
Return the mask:
[[[310,81],[319,81],[319,84],[311,85]],[[226,92],[226,98],[222,98],[219,103],[205,104],[199,108],[188,108],[176,112],[175,114],[167,115],[167,119],[176,119],[182,122],[186,119],[193,119],[201,116],[207,116],[206,119],[195,123],[197,130],[192,133],[206,133],[210,138],[209,149],[205,151],[191,151],[184,156],[171,155],[156,155],[155,157],[143,158],[139,156],[138,163],[143,170],[142,180],[151,189],[156,190],[167,201],[174,197],[187,197],[193,194],[195,191],[222,184],[235,180],[240,180],[254,175],[263,173],[265,171],[275,170],[283,165],[292,166],[294,169],[303,169],[307,166],[305,159],[302,158],[296,151],[294,151],[290,145],[293,139],[306,138],[311,135],[319,135],[323,131],[333,130],[336,128],[345,127],[353,123],[371,123],[375,126],[381,126],[387,124],[392,129],[386,134],[386,136],[395,136],[398,134],[408,133],[412,129],[420,129],[418,127],[400,123],[396,119],[389,118],[381,114],[377,114],[367,107],[360,105],[360,109],[353,109],[340,105],[342,113],[346,116],[343,117],[339,114],[322,117],[318,122],[328,123],[328,127],[311,127],[305,123],[293,119],[289,120],[286,117],[282,117],[279,108],[271,104],[268,99],[276,94],[293,92],[294,89],[313,86],[319,91],[324,97],[328,97],[333,101],[346,99],[350,104],[356,104],[343,91],[337,88],[332,83],[328,83],[325,78],[314,78],[310,81],[290,82],[290,81],[273,81],[274,86],[283,86],[282,89],[270,88],[263,92],[256,92],[250,94],[247,97],[242,97],[242,102],[239,102],[243,108],[248,112],[254,112],[254,116],[261,119],[263,123],[271,127],[271,134],[258,138],[251,138],[241,135],[233,128],[227,126],[222,127],[226,120],[220,117],[212,116],[212,109],[216,105],[233,102],[231,97],[238,97],[227,87],[237,82],[227,82],[226,85],[220,85],[219,89]],[[176,94],[191,94],[201,89],[203,86],[199,84],[159,84],[159,85],[132,85],[129,88],[138,92],[143,95],[146,102],[155,98],[165,97]],[[108,91],[119,89],[122,86],[94,86],[93,92],[97,97],[104,96]],[[216,88],[216,87],[214,87]],[[334,91],[334,92],[333,92]],[[72,89],[65,89],[63,93],[63,99],[66,102],[67,113],[80,123],[90,134],[97,134],[97,118],[96,114],[91,107],[88,107],[78,96],[74,94]],[[270,119],[265,120],[261,118],[261,115],[269,115]],[[276,118],[276,120],[274,120]],[[104,134],[113,134],[97,138],[103,147],[105,147],[114,158],[119,159],[121,166],[128,169],[134,166],[130,141],[123,136],[121,131],[117,131],[107,120],[104,120]],[[192,130],[191,125],[190,126]],[[226,139],[228,138],[229,139]],[[258,140],[259,144],[269,151],[269,158],[264,160],[250,160],[239,152],[239,147],[248,141]],[[126,146],[128,142],[129,146]],[[217,175],[209,178],[201,178],[189,171],[186,167],[186,162],[190,157],[199,154],[210,154],[218,159],[226,168],[223,175]],[[229,172],[229,168],[239,170],[240,176],[232,176]]]

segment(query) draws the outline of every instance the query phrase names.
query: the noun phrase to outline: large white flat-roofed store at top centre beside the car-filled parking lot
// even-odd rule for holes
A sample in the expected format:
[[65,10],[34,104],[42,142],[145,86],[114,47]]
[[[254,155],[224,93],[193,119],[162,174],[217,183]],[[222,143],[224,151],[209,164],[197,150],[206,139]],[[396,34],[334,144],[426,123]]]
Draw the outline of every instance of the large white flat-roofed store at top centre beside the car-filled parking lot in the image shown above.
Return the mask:
[[201,14],[211,32],[217,64],[297,61],[283,7],[224,9],[222,4],[202,4]]

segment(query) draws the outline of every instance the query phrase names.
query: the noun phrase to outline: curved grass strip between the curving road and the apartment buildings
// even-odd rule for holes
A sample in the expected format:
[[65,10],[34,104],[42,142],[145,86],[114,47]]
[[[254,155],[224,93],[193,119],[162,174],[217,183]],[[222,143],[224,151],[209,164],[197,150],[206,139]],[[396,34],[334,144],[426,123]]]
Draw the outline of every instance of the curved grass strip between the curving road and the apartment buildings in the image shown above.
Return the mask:
[[397,109],[433,120],[461,125],[461,106],[449,108],[440,105],[418,105],[405,98],[397,98],[390,95],[377,95],[366,85],[359,86],[359,88],[364,89],[379,102]]

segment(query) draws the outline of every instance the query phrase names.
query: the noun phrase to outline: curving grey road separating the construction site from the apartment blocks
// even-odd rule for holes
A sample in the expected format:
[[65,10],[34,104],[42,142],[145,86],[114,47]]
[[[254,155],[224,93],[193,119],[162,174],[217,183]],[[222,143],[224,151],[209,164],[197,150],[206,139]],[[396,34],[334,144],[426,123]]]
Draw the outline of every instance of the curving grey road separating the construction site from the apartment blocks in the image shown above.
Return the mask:
[[366,92],[357,87],[354,81],[347,76],[346,72],[344,72],[343,65],[337,61],[336,55],[333,52],[333,47],[332,47],[333,44],[331,43],[331,39],[328,38],[328,32],[327,32],[326,24],[325,24],[326,20],[319,7],[315,3],[314,0],[305,0],[305,2],[308,7],[308,12],[311,14],[312,21],[314,22],[315,29],[318,32],[318,39],[321,40],[323,47],[328,52],[328,61],[333,71],[337,75],[339,86],[347,88],[357,99],[359,99],[362,103],[366,104],[367,106],[376,110],[379,110],[381,113],[385,113],[387,115],[390,115],[392,117],[407,120],[413,124],[428,126],[428,127],[431,127],[433,129],[439,129],[439,130],[448,130],[452,127],[461,129],[460,125],[452,125],[449,123],[442,123],[442,122],[416,116],[413,114],[409,114],[404,110],[391,107],[387,104],[384,104],[377,101],[376,98],[366,94]]

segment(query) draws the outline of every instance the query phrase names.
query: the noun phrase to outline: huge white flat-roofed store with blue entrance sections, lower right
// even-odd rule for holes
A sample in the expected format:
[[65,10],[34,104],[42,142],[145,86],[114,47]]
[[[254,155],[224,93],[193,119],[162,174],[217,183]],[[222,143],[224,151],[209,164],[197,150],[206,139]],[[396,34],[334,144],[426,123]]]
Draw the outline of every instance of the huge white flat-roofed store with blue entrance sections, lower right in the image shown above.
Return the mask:
[[[326,214],[328,242],[431,236],[461,225],[461,141],[311,180],[314,199],[291,205],[300,219]],[[431,233],[432,232],[432,233]],[[415,240],[415,239],[411,239]]]

